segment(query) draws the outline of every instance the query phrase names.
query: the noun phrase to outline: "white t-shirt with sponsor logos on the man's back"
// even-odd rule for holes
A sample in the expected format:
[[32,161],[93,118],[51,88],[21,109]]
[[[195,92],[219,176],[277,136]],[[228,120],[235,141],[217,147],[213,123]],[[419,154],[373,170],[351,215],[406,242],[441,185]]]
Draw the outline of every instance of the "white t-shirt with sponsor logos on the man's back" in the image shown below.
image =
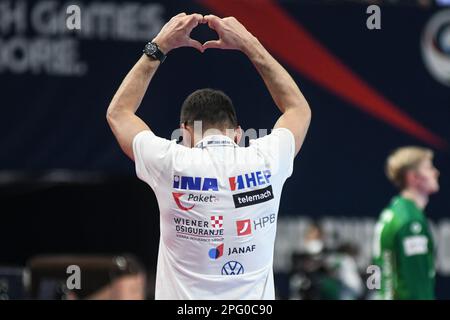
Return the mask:
[[278,128],[243,148],[223,135],[194,148],[142,131],[137,176],[156,194],[161,237],[156,299],[274,299],[280,196],[294,136]]

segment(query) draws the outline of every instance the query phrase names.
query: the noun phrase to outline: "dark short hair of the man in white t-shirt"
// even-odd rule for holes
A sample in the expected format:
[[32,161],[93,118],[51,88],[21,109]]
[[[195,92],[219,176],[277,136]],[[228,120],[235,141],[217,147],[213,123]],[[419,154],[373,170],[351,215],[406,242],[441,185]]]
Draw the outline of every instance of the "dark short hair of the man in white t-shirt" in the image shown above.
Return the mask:
[[238,126],[231,99],[223,91],[209,88],[194,91],[183,102],[180,122],[192,126],[194,121],[202,121],[204,130]]

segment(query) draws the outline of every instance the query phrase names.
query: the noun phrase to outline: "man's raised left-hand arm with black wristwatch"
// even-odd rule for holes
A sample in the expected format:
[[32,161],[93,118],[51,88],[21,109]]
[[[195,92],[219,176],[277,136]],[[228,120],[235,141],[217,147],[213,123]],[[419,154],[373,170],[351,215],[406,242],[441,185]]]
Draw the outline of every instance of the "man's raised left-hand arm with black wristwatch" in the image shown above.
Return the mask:
[[[192,29],[202,22],[203,16],[200,14],[180,13],[167,22],[152,42],[156,43],[165,54],[172,49],[187,46],[203,52],[202,45],[189,36]],[[131,159],[134,159],[133,138],[141,131],[150,130],[135,113],[159,64],[159,60],[142,55],[123,80],[106,113],[114,136]]]

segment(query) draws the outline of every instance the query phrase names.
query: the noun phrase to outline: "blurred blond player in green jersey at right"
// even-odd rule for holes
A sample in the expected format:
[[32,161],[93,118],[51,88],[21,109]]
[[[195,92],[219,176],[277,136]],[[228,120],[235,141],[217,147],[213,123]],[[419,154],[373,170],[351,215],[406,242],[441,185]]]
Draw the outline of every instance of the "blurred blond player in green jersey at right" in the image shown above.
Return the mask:
[[433,238],[424,209],[439,191],[433,152],[402,147],[386,161],[386,175],[399,189],[381,213],[374,234],[375,264],[381,269],[379,299],[434,299]]

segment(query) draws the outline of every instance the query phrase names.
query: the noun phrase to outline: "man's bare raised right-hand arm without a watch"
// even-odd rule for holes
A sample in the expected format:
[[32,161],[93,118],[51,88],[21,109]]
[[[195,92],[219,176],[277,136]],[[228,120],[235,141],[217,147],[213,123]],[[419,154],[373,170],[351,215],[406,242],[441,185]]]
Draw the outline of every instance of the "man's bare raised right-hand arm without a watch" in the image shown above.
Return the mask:
[[283,113],[275,128],[287,128],[292,132],[297,154],[311,122],[311,109],[295,81],[236,18],[208,15],[204,19],[219,35],[218,40],[206,42],[204,48],[240,50],[248,56]]

